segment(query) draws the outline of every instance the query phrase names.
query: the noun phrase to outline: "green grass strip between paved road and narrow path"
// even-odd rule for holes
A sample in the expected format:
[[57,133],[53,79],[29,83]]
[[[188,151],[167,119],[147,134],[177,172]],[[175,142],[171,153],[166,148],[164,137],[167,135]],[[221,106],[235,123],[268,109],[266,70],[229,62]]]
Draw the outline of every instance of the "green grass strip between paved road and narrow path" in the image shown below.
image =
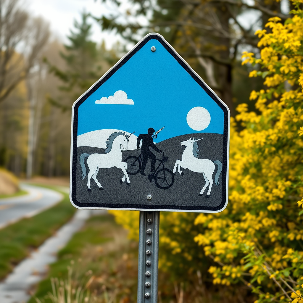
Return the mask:
[[0,229],[0,279],[72,217],[76,209],[68,195],[63,195],[63,200],[52,208]]

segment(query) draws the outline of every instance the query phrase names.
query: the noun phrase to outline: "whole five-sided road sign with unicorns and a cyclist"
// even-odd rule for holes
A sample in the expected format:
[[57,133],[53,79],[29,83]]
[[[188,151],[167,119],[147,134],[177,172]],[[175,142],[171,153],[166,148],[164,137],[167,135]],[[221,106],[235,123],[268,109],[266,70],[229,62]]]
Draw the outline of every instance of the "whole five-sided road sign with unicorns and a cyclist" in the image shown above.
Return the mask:
[[228,107],[156,33],[72,107],[77,208],[219,212],[228,200]]

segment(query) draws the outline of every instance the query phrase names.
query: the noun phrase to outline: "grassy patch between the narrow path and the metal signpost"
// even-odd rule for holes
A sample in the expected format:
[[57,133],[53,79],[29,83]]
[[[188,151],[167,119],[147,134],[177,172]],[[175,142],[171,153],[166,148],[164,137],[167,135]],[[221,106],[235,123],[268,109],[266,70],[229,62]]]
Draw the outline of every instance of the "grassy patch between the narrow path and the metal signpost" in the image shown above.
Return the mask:
[[127,239],[127,232],[114,218],[108,214],[92,217],[59,251],[58,261],[50,265],[48,277],[38,285],[37,301],[32,297],[29,303],[53,302],[51,278],[64,285],[70,267],[75,273],[73,284],[84,287],[90,281],[89,292],[98,302],[135,302],[137,262],[138,244]]

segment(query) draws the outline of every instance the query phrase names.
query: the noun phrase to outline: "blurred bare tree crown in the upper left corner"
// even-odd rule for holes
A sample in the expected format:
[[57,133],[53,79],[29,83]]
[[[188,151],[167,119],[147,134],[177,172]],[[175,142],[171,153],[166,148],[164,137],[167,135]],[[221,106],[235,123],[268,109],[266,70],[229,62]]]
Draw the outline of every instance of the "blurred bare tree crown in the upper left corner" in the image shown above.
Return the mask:
[[48,38],[48,24],[29,18],[19,0],[0,1],[0,102],[28,77]]

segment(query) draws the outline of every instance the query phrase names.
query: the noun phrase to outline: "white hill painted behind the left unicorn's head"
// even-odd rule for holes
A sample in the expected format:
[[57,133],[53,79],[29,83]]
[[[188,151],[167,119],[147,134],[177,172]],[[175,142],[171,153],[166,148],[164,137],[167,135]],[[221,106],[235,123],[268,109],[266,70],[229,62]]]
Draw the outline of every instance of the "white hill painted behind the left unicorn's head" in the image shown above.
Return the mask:
[[[106,141],[108,137],[114,132],[125,132],[119,129],[98,129],[96,131],[87,132],[82,135],[78,135],[77,146],[91,146],[106,148]],[[125,134],[130,135],[130,132],[125,132]],[[129,137],[127,144],[127,150],[137,149],[137,136],[135,134]]]

